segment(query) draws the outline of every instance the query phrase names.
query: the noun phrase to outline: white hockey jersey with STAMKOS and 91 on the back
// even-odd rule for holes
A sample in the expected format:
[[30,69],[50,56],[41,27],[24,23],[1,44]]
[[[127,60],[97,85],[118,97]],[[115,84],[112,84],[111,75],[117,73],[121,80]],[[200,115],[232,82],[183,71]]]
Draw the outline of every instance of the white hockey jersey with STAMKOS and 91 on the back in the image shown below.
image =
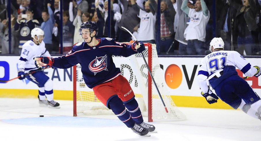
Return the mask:
[[246,76],[252,77],[257,69],[236,51],[215,51],[208,54],[201,60],[201,67],[198,72],[197,80],[202,92],[208,92],[207,79],[219,74],[225,66],[234,66],[242,71]]

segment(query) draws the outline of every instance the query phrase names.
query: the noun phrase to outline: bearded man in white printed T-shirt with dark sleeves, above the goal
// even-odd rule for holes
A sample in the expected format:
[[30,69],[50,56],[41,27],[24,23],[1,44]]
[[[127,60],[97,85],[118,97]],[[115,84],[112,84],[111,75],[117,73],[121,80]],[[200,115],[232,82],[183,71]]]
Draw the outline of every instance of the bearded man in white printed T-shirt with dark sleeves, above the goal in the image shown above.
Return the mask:
[[[132,0],[134,1],[134,0]],[[141,19],[139,29],[137,30],[137,40],[143,43],[155,43],[155,22],[156,14],[153,15],[150,11],[149,1],[145,3],[145,11],[137,4],[133,4],[135,10],[139,10],[138,17]],[[144,36],[146,35],[146,36]]]

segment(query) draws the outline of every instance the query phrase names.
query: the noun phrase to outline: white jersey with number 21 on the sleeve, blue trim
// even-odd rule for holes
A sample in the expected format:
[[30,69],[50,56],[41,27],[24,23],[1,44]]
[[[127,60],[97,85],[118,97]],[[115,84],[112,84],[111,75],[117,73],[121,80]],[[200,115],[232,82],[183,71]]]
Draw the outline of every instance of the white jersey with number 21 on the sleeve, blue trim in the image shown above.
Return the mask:
[[39,45],[36,45],[33,40],[25,42],[18,61],[18,70],[24,69],[25,73],[28,73],[30,70],[38,69],[34,64],[33,58],[40,56],[51,56],[45,48],[44,41],[42,41]]

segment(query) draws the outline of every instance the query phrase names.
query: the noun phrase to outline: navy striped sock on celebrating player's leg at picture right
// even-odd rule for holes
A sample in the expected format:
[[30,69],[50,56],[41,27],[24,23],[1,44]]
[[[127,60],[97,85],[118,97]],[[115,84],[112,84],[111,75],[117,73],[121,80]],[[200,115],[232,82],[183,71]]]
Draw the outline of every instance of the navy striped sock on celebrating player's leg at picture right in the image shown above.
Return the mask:
[[143,123],[143,117],[141,115],[141,110],[139,109],[138,102],[133,98],[130,102],[124,103],[126,108],[129,110],[131,117],[137,124]]

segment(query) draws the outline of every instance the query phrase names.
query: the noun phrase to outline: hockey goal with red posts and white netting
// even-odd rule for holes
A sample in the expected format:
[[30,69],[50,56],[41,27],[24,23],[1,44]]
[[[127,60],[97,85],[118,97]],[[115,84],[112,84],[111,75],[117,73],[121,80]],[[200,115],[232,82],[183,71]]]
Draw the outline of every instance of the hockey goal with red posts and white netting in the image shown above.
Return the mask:
[[[169,111],[168,113],[166,113],[164,109],[161,98],[151,80],[141,54],[135,54],[129,57],[113,56],[115,66],[120,68],[121,75],[130,83],[142,114],[143,116],[148,116],[149,122],[158,119],[160,119],[160,121],[185,119],[185,115],[178,110],[169,92],[166,90],[167,85],[164,80],[164,72],[159,65],[156,45],[150,43],[144,43],[144,45],[146,47],[146,50],[143,51],[144,57],[148,62],[148,66],[157,83],[156,85]],[[73,70],[74,116],[77,116],[78,113],[84,113],[85,115],[113,114],[111,110],[96,98],[92,89],[85,85],[81,73],[81,66],[77,64]]]

